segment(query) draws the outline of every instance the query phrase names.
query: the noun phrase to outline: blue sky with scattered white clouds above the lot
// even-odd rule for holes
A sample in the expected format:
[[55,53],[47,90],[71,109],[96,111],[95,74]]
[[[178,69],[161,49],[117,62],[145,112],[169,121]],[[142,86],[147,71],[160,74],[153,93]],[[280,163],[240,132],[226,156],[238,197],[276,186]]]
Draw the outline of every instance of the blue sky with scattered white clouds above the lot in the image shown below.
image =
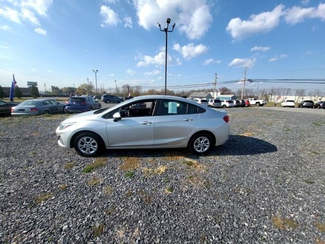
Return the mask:
[[[0,85],[77,87],[98,69],[105,89],[164,86],[167,17],[168,85],[237,80],[244,66],[246,78],[325,78],[321,1],[0,0]],[[259,84],[271,86],[325,89]]]

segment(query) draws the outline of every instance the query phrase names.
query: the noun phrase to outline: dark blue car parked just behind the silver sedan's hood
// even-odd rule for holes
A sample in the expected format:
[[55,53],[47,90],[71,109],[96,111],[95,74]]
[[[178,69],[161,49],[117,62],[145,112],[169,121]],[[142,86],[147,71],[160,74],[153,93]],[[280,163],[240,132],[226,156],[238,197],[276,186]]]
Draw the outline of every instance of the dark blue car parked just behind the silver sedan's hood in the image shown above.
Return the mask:
[[92,97],[71,97],[66,102],[66,112],[86,112],[100,108],[101,103]]

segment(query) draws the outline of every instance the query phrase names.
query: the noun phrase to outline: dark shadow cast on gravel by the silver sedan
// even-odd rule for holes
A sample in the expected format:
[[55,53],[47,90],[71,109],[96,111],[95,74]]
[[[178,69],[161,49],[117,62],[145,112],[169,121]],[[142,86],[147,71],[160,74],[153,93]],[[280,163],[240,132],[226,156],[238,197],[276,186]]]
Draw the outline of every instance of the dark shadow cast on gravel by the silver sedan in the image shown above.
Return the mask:
[[[256,155],[272,153],[278,148],[264,140],[254,137],[230,135],[229,140],[211,150],[207,156],[235,156],[235,155]],[[199,156],[191,154],[186,148],[161,148],[161,149],[107,149],[100,157],[187,157],[198,159]],[[200,156],[205,157],[205,156]]]

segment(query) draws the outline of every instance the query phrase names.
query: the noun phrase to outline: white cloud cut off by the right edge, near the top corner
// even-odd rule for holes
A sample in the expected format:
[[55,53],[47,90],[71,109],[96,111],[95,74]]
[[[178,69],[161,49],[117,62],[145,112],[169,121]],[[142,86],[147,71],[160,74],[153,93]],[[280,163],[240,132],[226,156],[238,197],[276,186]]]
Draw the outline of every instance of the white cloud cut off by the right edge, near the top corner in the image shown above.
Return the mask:
[[325,3],[320,3],[317,8],[300,8],[294,6],[286,11],[285,21],[289,24],[297,24],[308,18],[320,18],[325,20]]

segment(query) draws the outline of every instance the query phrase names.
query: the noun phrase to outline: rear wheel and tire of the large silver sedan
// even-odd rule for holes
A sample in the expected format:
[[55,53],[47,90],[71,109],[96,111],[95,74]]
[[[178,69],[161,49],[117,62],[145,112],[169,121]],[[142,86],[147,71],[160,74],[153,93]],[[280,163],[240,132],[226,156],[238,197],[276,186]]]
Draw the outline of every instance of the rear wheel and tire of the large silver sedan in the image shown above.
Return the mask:
[[189,140],[188,147],[193,154],[205,155],[214,147],[214,140],[204,132],[197,133]]

